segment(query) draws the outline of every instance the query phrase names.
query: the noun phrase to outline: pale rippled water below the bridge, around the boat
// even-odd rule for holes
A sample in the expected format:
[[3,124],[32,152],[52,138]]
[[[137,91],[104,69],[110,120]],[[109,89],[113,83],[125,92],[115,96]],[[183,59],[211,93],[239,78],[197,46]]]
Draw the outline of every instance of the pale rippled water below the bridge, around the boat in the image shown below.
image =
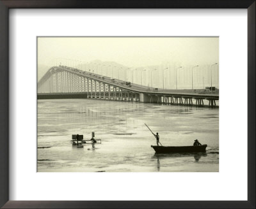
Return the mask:
[[[205,154],[156,155],[166,146],[207,144]],[[218,171],[219,110],[94,99],[38,100],[38,171]],[[72,148],[71,135],[102,143]],[[49,147],[49,148],[42,148]]]

